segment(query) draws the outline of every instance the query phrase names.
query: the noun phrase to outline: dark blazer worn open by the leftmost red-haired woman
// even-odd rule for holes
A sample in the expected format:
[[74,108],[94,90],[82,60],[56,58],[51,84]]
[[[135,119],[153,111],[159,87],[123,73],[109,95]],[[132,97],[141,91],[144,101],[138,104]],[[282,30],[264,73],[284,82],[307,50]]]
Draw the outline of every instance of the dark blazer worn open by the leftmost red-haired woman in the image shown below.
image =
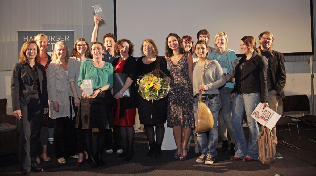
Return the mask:
[[[40,82],[40,91],[42,94],[44,107],[48,108],[47,89],[43,88],[43,86],[45,87],[46,84],[43,65],[37,64],[36,70]],[[33,76],[27,62],[25,62],[24,64],[15,64],[12,69],[11,79],[11,96],[13,111],[21,109],[22,106],[26,106],[27,103],[30,101],[33,91],[33,84]]]

